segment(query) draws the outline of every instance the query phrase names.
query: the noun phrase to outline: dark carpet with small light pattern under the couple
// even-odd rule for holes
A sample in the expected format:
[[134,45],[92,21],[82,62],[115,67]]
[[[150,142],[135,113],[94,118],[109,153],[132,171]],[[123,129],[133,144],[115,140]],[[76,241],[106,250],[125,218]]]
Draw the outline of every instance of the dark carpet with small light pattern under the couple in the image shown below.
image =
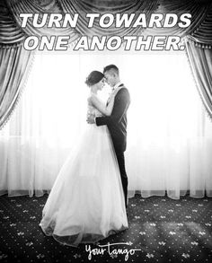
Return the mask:
[[129,229],[71,248],[46,237],[43,197],[0,197],[1,262],[211,262],[212,198],[129,199]]

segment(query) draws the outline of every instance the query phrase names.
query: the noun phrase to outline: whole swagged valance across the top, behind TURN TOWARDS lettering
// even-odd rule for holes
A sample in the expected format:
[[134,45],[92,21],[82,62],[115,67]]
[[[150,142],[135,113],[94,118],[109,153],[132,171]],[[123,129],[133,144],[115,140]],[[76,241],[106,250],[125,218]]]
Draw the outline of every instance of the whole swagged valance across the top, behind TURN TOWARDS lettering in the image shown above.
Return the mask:
[[[2,0],[0,4],[0,44],[15,44],[27,36],[36,35],[68,35],[70,42],[86,35],[126,36],[126,35],[190,35],[196,42],[210,45],[212,42],[212,3],[206,0]],[[29,19],[25,28],[21,27],[20,13],[79,13],[76,28],[34,28]],[[191,23],[187,28],[142,28],[120,27],[111,25],[101,28],[96,20],[93,28],[87,27],[86,13],[146,13],[147,20],[152,13],[191,14]]]

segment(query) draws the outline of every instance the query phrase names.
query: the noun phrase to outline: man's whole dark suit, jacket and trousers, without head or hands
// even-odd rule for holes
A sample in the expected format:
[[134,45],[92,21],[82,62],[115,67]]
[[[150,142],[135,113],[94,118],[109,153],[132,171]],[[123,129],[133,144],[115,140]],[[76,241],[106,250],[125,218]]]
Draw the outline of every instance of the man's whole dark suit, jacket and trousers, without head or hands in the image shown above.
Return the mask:
[[124,152],[127,147],[127,110],[130,103],[128,89],[119,85],[119,91],[115,95],[114,105],[110,116],[97,117],[95,122],[97,126],[107,125],[114,145],[119,163],[120,178],[125,195],[125,205],[127,207],[128,197],[128,176],[125,171]]

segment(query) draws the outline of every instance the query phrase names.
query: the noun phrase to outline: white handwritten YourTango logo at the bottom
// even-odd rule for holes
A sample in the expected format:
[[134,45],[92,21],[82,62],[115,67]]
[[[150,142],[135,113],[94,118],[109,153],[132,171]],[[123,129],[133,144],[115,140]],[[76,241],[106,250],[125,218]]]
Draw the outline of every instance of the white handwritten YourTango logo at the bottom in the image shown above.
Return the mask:
[[85,245],[85,250],[88,252],[88,259],[91,260],[93,256],[104,255],[108,253],[111,258],[116,258],[118,255],[125,255],[125,261],[128,261],[129,255],[132,256],[136,251],[140,251],[141,249],[126,249],[120,248],[117,246],[128,245],[131,246],[132,242],[126,243],[110,243],[108,242],[105,245],[98,244],[99,248],[92,249],[91,245]]

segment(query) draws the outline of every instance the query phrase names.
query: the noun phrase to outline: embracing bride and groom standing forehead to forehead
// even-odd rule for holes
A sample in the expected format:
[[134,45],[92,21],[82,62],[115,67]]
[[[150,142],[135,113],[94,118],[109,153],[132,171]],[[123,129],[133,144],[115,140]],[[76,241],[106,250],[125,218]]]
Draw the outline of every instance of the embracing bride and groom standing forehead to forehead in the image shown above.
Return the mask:
[[[98,98],[104,82],[112,87],[105,105]],[[119,80],[119,68],[93,71],[85,82],[87,129],[75,146],[50,191],[40,227],[57,241],[77,246],[100,241],[128,229],[128,177],[124,152],[127,137],[128,89]]]

